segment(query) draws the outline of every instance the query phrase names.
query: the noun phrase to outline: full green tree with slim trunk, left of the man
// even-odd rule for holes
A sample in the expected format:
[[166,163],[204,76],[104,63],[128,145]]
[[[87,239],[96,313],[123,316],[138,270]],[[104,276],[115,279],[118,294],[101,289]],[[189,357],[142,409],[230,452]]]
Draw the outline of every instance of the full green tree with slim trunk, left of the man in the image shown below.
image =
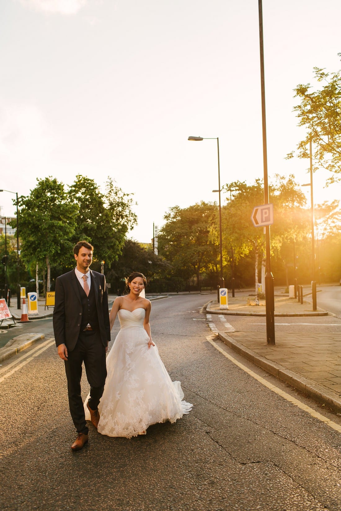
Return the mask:
[[63,183],[51,176],[37,181],[29,196],[18,198],[21,259],[27,266],[32,261],[46,263],[50,291],[51,264],[70,258],[77,208]]

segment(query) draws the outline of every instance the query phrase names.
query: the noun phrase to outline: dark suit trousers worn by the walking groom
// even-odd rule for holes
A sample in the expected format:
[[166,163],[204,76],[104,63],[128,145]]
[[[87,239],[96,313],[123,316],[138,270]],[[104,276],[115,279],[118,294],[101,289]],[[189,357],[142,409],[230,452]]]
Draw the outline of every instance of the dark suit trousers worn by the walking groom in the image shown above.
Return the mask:
[[105,347],[99,332],[81,332],[75,348],[68,351],[65,363],[67,394],[72,420],[78,433],[88,433],[81,396],[82,363],[90,385],[89,407],[96,410],[103,394],[106,379]]

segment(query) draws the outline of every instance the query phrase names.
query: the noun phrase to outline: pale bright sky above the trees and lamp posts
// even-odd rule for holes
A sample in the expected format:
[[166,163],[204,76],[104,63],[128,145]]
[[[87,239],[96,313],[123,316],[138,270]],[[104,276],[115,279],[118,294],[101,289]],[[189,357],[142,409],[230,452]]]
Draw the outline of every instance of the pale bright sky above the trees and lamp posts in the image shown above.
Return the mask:
[[[340,17],[339,0],[263,0],[269,181],[309,182],[309,160],[285,159],[305,136],[293,89],[341,67]],[[214,137],[221,184],[263,178],[257,0],[3,0],[0,65],[4,190],[110,176],[137,202],[129,237],[150,242],[169,207],[218,199]],[[327,177],[315,203],[341,197]]]

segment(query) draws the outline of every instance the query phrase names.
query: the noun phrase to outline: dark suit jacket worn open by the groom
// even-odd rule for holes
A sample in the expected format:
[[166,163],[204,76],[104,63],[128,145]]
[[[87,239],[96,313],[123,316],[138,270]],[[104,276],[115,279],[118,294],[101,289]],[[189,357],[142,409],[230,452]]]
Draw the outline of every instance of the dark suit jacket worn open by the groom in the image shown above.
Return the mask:
[[[105,277],[97,271],[89,270],[91,286],[94,286],[100,336],[104,346],[110,340],[108,291]],[[66,344],[72,351],[76,345],[81,324],[82,304],[75,270],[64,273],[56,280],[55,307],[53,310],[53,330],[56,346]]]

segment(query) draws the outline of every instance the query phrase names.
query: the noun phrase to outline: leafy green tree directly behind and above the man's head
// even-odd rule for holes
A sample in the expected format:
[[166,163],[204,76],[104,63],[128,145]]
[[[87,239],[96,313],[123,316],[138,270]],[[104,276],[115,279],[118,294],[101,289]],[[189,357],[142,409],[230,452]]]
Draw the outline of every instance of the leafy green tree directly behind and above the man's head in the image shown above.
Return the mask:
[[128,230],[137,222],[131,210],[131,195],[124,193],[109,177],[103,195],[94,179],[77,175],[69,196],[77,209],[76,241],[92,243],[95,259],[110,265],[121,253]]

